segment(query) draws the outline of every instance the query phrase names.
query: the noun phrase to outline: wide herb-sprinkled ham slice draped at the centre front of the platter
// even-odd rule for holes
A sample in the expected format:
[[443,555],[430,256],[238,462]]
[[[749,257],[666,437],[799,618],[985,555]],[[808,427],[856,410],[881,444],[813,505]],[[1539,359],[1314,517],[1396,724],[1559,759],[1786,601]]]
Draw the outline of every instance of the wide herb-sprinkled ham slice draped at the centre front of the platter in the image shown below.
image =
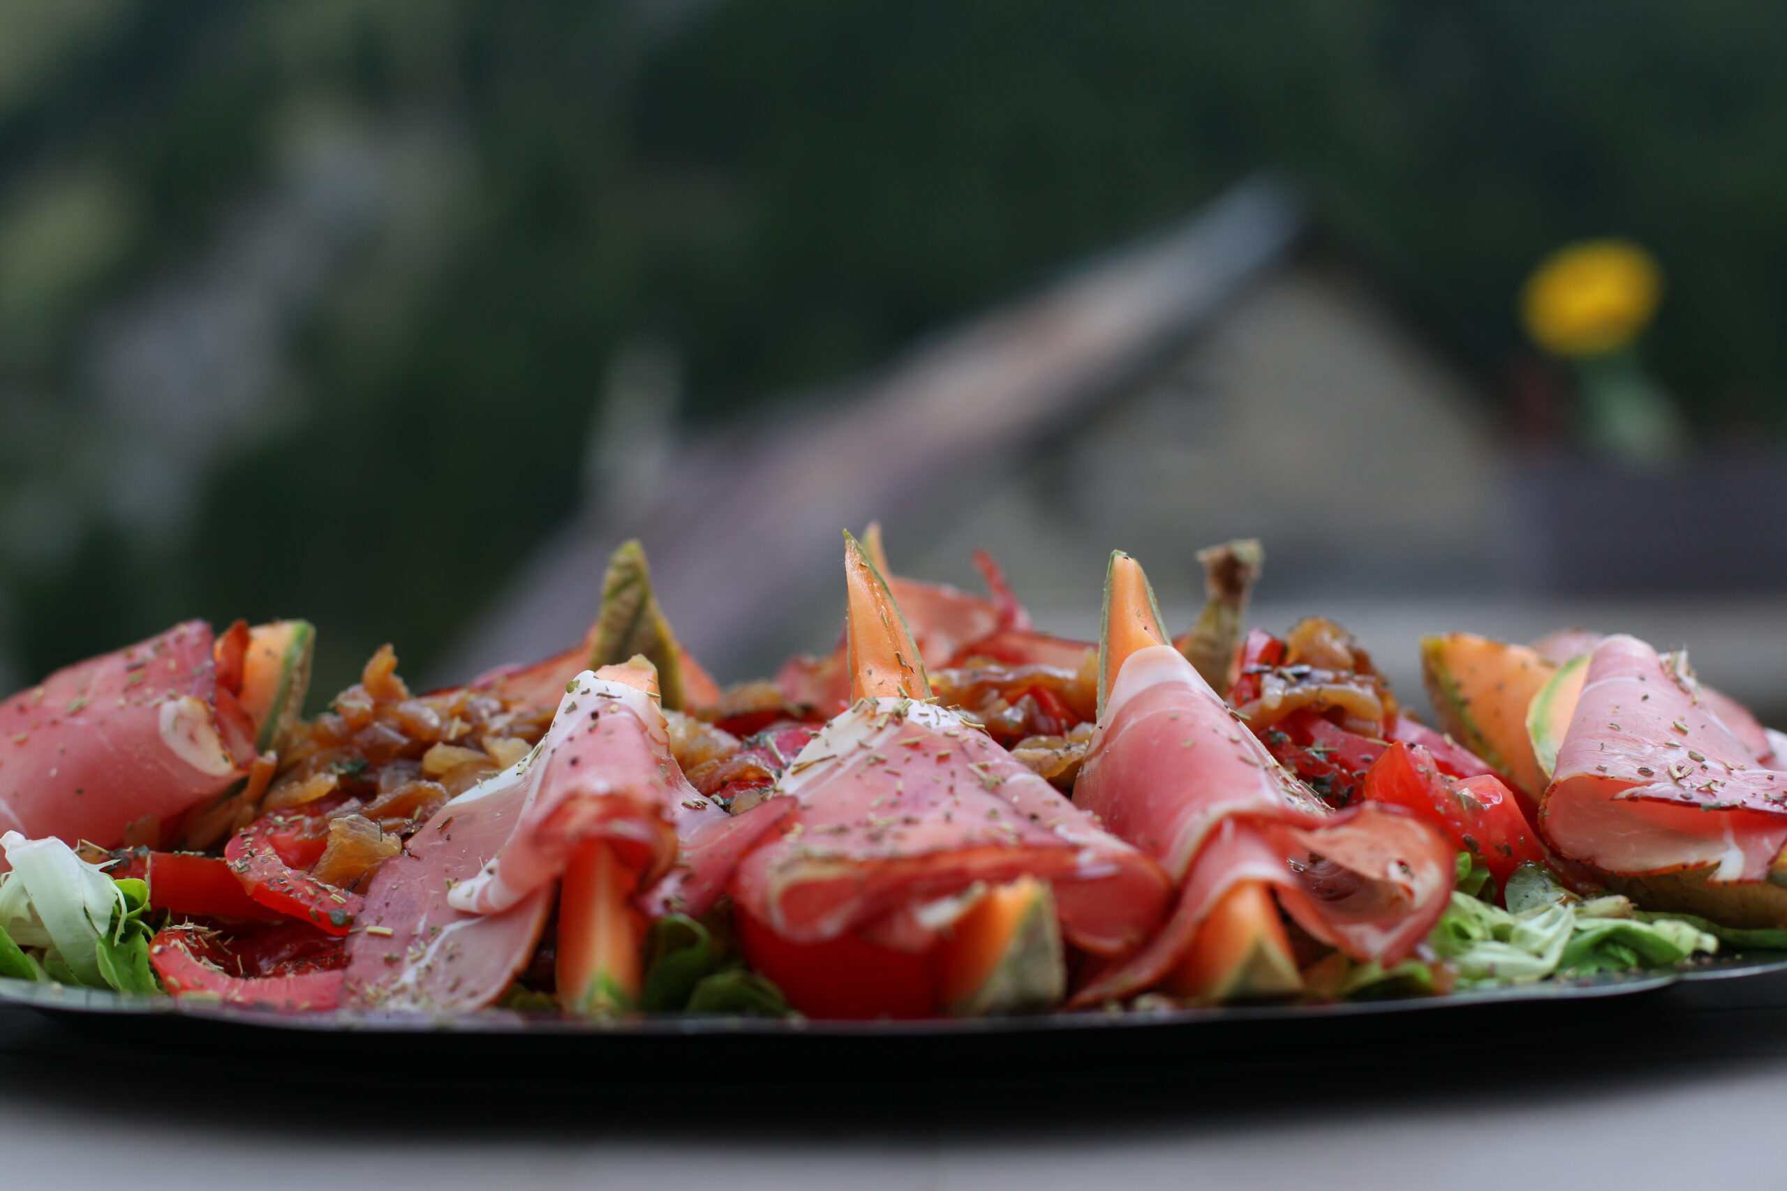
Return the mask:
[[795,943],[863,932],[920,950],[926,907],[1033,875],[1061,932],[1110,955],[1147,937],[1170,893],[1153,861],[931,704],[861,700],[788,766],[784,798],[788,830],[743,859],[733,896]]

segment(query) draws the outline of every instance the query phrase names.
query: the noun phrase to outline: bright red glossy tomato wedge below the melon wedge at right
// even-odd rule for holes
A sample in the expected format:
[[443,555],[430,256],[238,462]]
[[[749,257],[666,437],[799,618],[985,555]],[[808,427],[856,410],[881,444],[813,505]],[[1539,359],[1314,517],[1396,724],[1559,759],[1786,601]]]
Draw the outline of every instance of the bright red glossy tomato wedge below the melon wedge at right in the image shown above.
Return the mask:
[[1492,773],[1455,780],[1421,745],[1397,741],[1365,775],[1365,798],[1406,807],[1446,830],[1453,843],[1480,857],[1496,887],[1505,889],[1521,864],[1544,864],[1519,804]]

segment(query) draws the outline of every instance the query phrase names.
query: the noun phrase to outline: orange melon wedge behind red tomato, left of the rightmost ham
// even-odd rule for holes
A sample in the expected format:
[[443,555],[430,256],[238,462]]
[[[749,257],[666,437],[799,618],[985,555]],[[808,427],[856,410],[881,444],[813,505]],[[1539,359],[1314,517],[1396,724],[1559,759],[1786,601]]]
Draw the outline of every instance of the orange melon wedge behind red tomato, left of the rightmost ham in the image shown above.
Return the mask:
[[1505,773],[1528,814],[1549,779],[1533,759],[1526,709],[1553,673],[1556,666],[1524,645],[1471,632],[1421,639],[1421,675],[1440,729]]

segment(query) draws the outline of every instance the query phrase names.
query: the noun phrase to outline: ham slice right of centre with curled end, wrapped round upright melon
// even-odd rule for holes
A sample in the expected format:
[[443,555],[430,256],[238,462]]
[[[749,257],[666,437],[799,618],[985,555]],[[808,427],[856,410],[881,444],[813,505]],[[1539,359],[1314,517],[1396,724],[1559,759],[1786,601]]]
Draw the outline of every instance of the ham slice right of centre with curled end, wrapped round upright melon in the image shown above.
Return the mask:
[[1330,811],[1167,645],[1124,662],[1074,800],[1179,884],[1165,929],[1094,973],[1074,1004],[1156,984],[1242,880],[1274,886],[1317,939],[1387,964],[1426,939],[1451,896],[1453,848],[1437,830],[1399,807]]

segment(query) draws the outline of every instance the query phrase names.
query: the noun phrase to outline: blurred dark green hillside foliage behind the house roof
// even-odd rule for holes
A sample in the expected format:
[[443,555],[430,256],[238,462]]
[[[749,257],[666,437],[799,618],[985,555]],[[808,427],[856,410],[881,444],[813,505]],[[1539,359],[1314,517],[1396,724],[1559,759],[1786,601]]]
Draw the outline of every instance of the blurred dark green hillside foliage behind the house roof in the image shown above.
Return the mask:
[[[1539,255],[1639,239],[1662,375],[1773,421],[1783,34],[1739,0],[0,0],[13,662],[304,614],[323,689],[382,639],[415,670],[574,509],[618,345],[729,416],[1260,166],[1489,368]],[[145,534],[95,495],[95,327],[318,130],[390,166],[384,214],[281,329],[284,412]]]

